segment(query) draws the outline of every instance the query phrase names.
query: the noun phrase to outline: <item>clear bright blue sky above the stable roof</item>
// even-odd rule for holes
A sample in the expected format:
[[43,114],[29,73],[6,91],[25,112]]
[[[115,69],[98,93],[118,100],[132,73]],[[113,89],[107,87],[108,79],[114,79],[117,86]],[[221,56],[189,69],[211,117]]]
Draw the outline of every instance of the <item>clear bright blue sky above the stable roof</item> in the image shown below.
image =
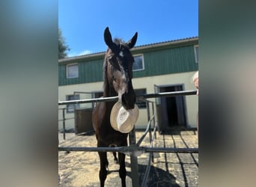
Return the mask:
[[68,57],[105,52],[103,31],[135,46],[198,37],[198,0],[59,0],[58,28]]

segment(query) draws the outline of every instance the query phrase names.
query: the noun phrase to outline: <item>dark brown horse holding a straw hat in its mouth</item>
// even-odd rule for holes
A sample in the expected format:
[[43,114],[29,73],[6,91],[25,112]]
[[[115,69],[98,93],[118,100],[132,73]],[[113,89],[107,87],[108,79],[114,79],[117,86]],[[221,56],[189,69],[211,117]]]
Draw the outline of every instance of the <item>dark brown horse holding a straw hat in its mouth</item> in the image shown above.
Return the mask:
[[[104,97],[118,96],[119,101],[127,110],[135,106],[135,92],[132,88],[132,57],[131,49],[135,46],[137,32],[125,43],[122,40],[112,40],[112,35],[107,27],[104,31],[104,40],[108,49],[103,64],[104,72]],[[93,126],[97,138],[97,147],[122,147],[127,146],[127,133],[121,133],[112,128],[110,114],[115,102],[98,102],[93,111]],[[100,186],[104,186],[109,165],[106,152],[98,152],[100,156]],[[115,156],[115,153],[114,153]],[[126,186],[127,171],[125,168],[125,155],[118,153],[119,176],[122,186]]]

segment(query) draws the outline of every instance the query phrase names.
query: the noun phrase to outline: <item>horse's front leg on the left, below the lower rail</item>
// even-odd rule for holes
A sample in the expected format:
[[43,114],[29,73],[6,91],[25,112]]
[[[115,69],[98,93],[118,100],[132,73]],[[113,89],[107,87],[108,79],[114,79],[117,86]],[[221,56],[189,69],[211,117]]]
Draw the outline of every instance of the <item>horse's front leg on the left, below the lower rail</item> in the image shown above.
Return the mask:
[[100,186],[103,187],[106,177],[107,177],[107,168],[109,165],[108,159],[107,159],[107,153],[106,152],[98,152],[100,156]]

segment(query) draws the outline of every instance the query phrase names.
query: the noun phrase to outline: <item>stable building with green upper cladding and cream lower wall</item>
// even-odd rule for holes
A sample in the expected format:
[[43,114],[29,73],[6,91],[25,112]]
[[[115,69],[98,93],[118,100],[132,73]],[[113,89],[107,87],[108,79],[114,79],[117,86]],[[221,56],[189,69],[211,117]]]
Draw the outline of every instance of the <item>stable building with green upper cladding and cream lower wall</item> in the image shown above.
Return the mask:
[[[192,76],[198,70],[198,37],[135,46],[132,85],[138,95],[195,90]],[[91,99],[103,95],[103,61],[106,52],[64,58],[58,61],[58,99]],[[148,99],[156,108],[159,131],[174,127],[196,128],[198,96],[170,96]],[[136,129],[147,126],[146,102],[138,100]],[[64,109],[63,109],[64,108]],[[59,131],[92,129],[94,103],[59,105]]]

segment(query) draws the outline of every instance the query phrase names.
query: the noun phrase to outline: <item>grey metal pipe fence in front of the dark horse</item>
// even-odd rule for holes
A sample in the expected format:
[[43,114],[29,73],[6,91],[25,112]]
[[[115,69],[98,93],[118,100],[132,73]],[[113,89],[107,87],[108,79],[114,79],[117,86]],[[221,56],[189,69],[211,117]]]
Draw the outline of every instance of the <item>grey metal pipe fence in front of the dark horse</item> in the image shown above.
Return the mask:
[[[132,178],[132,186],[139,186],[139,177],[138,177],[138,159],[137,157],[143,153],[150,153],[148,158],[148,165],[146,171],[144,172],[144,179],[141,183],[141,186],[147,186],[147,178],[150,173],[151,162],[153,162],[153,153],[198,153],[198,148],[171,148],[171,147],[153,147],[153,140],[156,138],[156,115],[154,102],[148,101],[148,98],[153,97],[161,97],[161,96],[184,96],[184,95],[195,95],[196,91],[174,91],[174,92],[165,92],[165,93],[150,93],[137,96],[137,99],[141,99],[146,101],[147,103],[147,128],[144,131],[144,134],[141,138],[138,139],[136,143],[135,140],[135,129],[132,129],[129,132],[129,146],[127,147],[58,147],[58,151],[103,151],[103,152],[121,152],[130,156],[131,161],[131,178]],[[103,97],[97,99],[79,99],[79,100],[71,100],[71,101],[61,101],[58,102],[58,105],[69,105],[69,104],[79,104],[86,102],[109,102],[118,100],[118,96],[112,97]],[[150,108],[152,110],[152,116],[150,117]],[[64,108],[63,108],[64,115]],[[64,117],[64,116],[63,116]],[[67,119],[66,119],[67,120]],[[63,125],[65,123],[63,122]],[[65,132],[65,130],[64,130]],[[140,144],[149,134],[150,136],[150,144],[149,147],[141,147]]]

